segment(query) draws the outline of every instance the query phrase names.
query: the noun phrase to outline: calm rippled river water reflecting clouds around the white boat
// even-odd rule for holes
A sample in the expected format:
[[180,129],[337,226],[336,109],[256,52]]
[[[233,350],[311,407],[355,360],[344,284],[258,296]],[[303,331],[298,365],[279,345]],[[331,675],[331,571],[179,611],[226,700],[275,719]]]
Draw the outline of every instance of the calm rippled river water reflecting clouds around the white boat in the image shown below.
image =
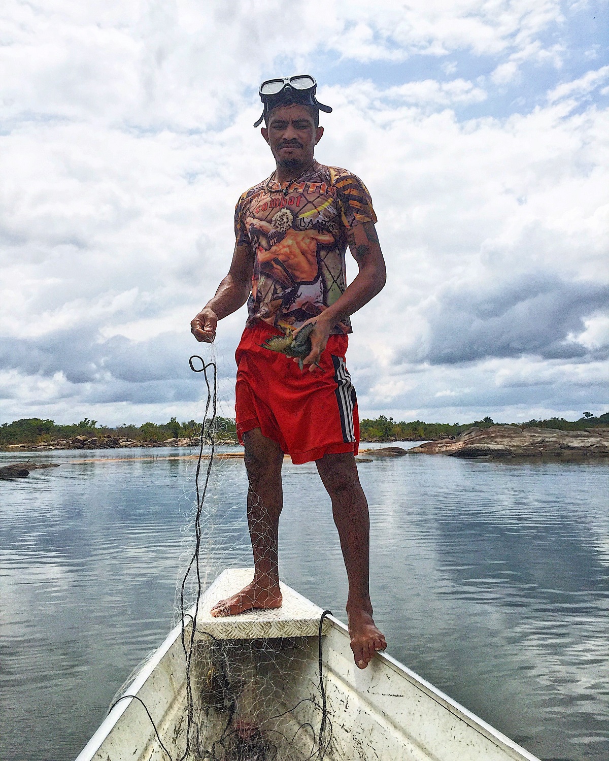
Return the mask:
[[[0,455],[62,463],[0,482],[3,761],[74,759],[175,621],[195,463],[171,453]],[[607,465],[410,455],[359,468],[389,653],[541,759],[607,761]],[[217,461],[210,580],[252,564],[245,493],[243,461]],[[344,619],[315,466],[286,461],[284,501],[281,578]]]

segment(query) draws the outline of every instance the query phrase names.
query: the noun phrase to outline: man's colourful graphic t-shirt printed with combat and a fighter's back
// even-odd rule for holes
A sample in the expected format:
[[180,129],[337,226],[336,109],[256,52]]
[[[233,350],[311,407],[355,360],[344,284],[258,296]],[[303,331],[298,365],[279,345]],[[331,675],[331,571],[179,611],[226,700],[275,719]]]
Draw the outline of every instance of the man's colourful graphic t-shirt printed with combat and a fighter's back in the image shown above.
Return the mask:
[[[236,205],[236,243],[255,253],[249,326],[297,328],[334,304],[347,287],[347,232],[376,222],[370,193],[346,169],[315,161],[288,187],[263,180]],[[350,333],[349,318],[331,332]]]

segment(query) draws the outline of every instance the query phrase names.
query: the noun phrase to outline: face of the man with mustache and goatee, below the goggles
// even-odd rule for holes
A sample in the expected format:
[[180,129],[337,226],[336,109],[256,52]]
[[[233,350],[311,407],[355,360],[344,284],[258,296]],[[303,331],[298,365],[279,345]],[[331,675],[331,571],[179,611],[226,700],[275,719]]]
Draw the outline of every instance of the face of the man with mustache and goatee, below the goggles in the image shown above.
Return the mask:
[[262,137],[271,146],[278,166],[284,169],[306,167],[313,160],[315,146],[322,138],[323,127],[316,129],[308,108],[293,103],[271,111],[268,128]]

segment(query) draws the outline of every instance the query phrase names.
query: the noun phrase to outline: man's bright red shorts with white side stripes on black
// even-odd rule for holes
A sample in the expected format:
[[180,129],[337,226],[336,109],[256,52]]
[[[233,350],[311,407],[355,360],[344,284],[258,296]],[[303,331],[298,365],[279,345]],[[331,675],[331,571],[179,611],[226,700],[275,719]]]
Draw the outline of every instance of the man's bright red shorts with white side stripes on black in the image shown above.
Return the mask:
[[293,463],[309,463],[325,454],[353,452],[360,446],[360,420],[351,378],[344,364],[347,336],[330,336],[319,360],[321,370],[300,371],[293,358],[262,344],[278,334],[259,320],[243,331],[237,346],[236,431],[260,428],[277,441]]

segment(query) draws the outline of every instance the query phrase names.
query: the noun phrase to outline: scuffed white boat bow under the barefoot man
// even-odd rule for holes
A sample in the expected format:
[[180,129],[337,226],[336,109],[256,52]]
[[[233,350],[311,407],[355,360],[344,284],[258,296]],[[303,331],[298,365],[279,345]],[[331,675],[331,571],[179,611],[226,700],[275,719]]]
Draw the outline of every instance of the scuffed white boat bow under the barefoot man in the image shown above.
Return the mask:
[[[249,758],[261,761],[538,761],[391,656],[378,653],[358,669],[347,627],[333,616],[322,629],[327,721],[320,750],[322,610],[282,584],[277,610],[210,615],[217,600],[251,579],[252,570],[228,569],[199,601],[188,758],[243,759],[250,742]],[[193,615],[194,609],[185,616],[187,639]],[[135,697],[114,706],[77,761],[183,757],[189,721],[181,635],[180,624],[126,690]]]

